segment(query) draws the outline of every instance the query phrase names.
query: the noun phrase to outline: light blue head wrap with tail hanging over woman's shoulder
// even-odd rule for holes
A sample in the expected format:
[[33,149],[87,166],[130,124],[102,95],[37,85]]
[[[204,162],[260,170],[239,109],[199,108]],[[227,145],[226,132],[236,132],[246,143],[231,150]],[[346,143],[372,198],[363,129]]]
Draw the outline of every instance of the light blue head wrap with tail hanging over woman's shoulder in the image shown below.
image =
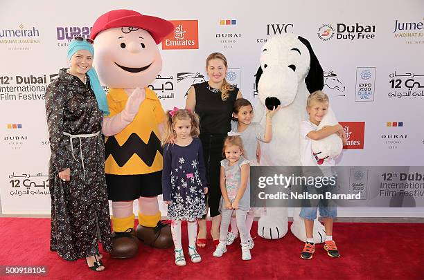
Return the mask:
[[[91,55],[94,57],[94,47],[92,44],[87,42],[85,39],[82,41],[72,40],[71,44],[68,46],[68,59],[78,51],[78,50],[88,50]],[[90,79],[91,89],[94,91],[94,95],[96,95],[96,100],[98,104],[98,108],[103,111],[103,115],[109,115],[109,106],[107,106],[107,100],[105,91],[103,91],[103,87],[100,85],[98,80],[98,76],[94,67],[91,67],[87,72],[87,75]]]

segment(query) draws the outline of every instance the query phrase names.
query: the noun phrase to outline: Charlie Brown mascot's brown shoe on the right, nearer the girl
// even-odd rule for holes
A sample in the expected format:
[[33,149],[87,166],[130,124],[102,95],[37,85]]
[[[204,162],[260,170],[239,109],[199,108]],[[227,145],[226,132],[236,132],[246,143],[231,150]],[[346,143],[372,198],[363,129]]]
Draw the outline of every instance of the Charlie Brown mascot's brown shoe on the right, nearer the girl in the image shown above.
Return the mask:
[[145,245],[154,248],[166,249],[174,245],[173,236],[170,232],[170,226],[165,221],[157,222],[156,227],[145,227],[137,225],[136,236],[145,243]]

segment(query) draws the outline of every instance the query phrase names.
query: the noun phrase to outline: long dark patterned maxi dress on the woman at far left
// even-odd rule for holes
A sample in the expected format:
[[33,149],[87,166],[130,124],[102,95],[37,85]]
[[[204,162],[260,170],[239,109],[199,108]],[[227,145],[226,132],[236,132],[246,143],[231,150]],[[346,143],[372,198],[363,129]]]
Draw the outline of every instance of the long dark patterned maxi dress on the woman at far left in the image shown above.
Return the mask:
[[[86,86],[66,70],[60,70],[59,77],[46,90],[51,147],[48,165],[50,250],[57,251],[67,261],[73,261],[96,254],[99,237],[106,251],[112,249],[112,241],[101,132],[98,136],[73,140],[63,134],[97,133],[101,130],[103,115],[87,75]],[[71,180],[62,182],[58,172],[68,167]]]

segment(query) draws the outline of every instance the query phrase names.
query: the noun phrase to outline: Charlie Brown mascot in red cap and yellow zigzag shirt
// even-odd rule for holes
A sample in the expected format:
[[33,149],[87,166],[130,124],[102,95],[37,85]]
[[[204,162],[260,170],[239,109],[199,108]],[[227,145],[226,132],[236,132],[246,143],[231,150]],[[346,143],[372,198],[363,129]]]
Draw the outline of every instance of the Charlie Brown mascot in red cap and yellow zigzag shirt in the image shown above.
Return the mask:
[[[139,241],[155,248],[173,245],[170,227],[161,222],[161,133],[164,109],[147,86],[162,67],[159,44],[173,32],[170,21],[133,10],[112,10],[93,25],[100,81],[109,87],[110,115],[103,122],[105,173],[112,200],[111,256],[135,256]],[[134,200],[139,225],[134,232]]]

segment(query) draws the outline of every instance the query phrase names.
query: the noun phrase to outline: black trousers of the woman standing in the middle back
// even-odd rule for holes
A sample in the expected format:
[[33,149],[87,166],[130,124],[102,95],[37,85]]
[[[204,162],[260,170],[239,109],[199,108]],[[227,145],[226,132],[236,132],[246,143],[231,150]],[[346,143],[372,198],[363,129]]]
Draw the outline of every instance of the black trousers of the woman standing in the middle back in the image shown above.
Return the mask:
[[[206,167],[206,180],[208,181],[208,201],[211,217],[218,216],[221,199],[220,189],[220,168],[222,157],[222,147],[227,134],[206,134],[201,133],[199,138],[202,141],[204,165]],[[206,218],[206,215],[204,216]]]

